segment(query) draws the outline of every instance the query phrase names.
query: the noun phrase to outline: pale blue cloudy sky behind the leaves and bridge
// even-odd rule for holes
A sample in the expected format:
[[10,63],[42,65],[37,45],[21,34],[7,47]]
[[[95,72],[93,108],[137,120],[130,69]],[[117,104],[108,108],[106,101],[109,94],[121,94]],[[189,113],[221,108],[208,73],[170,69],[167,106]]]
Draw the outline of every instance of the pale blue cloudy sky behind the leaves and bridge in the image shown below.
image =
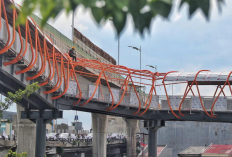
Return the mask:
[[[16,0],[21,4],[21,0]],[[175,2],[177,5],[179,0]],[[172,11],[170,20],[156,17],[152,22],[151,32],[145,38],[134,31],[131,17],[127,21],[124,33],[120,37],[120,64],[139,69],[139,53],[127,46],[142,47],[142,69],[145,65],[157,65],[159,72],[167,71],[229,71],[232,66],[232,1],[226,0],[222,14],[216,5],[212,6],[210,21],[206,21],[201,12],[189,20],[187,5],[180,11]],[[90,12],[78,7],[75,12],[75,27],[117,60],[118,41],[111,22],[98,27]],[[61,13],[55,21],[49,23],[61,33],[71,38],[71,15]],[[154,69],[149,69],[153,70]],[[14,107],[11,109],[14,110]],[[64,118],[73,121],[75,112],[65,111]],[[78,112],[84,129],[91,128],[91,115]]]

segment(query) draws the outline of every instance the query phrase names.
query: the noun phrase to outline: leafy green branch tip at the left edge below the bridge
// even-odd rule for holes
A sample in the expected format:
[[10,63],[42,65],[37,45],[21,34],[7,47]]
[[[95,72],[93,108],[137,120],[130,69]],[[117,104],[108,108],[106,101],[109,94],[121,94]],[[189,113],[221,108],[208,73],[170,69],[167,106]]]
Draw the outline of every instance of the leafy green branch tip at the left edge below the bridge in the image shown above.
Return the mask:
[[7,97],[3,102],[0,102],[0,118],[2,118],[3,111],[7,110],[13,103],[17,103],[23,97],[29,97],[32,93],[37,91],[40,88],[38,82],[35,82],[31,85],[27,85],[25,90],[19,89],[14,93],[8,92]]

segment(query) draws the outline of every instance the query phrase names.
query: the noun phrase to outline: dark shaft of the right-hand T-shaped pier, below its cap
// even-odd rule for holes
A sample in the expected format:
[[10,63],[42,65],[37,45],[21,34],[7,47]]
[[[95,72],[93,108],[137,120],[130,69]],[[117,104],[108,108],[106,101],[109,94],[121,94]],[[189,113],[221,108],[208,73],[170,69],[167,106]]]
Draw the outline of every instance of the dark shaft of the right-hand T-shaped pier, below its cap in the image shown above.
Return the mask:
[[160,127],[149,128],[148,156],[157,157],[157,131]]

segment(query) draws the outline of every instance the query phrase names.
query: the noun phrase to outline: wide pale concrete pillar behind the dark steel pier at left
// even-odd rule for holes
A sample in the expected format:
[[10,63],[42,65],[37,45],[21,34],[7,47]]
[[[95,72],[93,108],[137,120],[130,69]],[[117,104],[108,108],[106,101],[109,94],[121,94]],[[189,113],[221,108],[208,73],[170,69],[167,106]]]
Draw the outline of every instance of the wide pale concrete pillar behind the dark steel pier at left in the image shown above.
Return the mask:
[[28,157],[35,157],[36,125],[28,119],[21,119],[24,108],[17,105],[17,153],[27,152]]

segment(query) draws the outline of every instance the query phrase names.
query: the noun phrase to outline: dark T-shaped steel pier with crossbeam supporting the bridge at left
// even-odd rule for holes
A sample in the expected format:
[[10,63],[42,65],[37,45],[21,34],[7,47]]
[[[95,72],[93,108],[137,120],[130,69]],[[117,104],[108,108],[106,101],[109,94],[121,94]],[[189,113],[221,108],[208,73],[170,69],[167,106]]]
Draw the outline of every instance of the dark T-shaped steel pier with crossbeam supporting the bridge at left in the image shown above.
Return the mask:
[[[22,111],[22,119],[36,123],[35,157],[44,157],[46,144],[46,124],[52,119],[63,118],[63,111]],[[27,138],[27,140],[32,140]],[[18,143],[19,145],[20,143]]]

